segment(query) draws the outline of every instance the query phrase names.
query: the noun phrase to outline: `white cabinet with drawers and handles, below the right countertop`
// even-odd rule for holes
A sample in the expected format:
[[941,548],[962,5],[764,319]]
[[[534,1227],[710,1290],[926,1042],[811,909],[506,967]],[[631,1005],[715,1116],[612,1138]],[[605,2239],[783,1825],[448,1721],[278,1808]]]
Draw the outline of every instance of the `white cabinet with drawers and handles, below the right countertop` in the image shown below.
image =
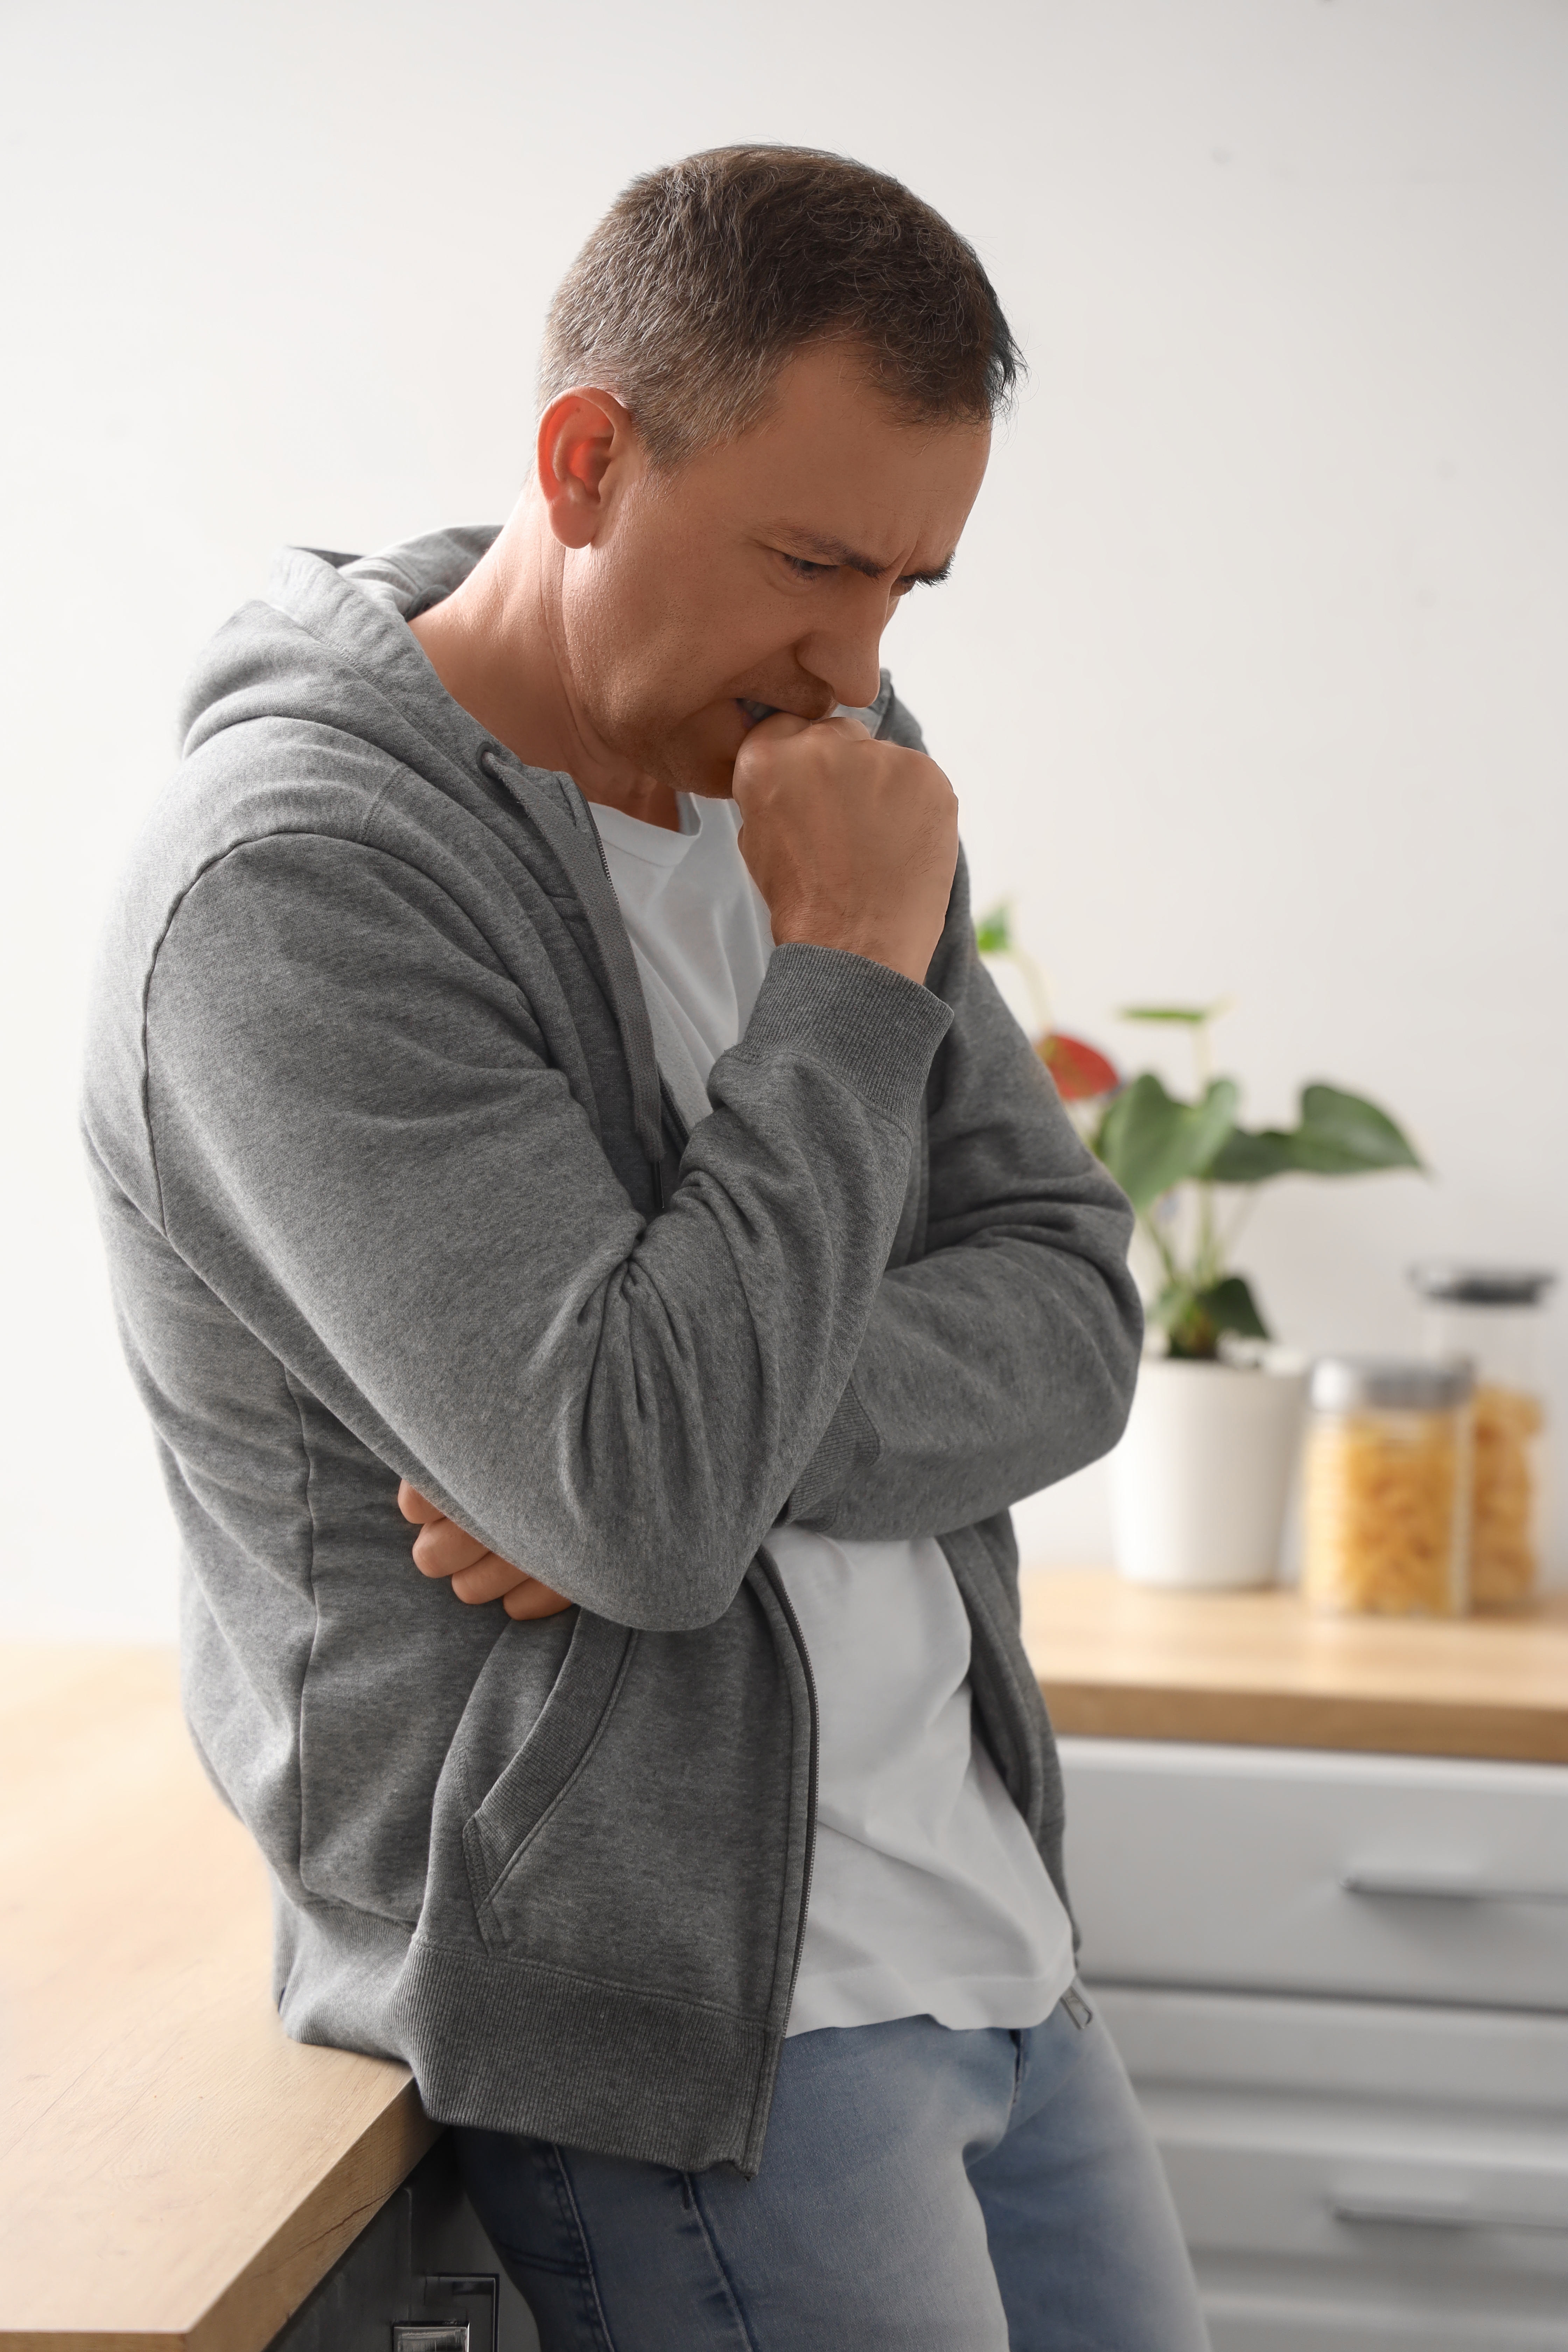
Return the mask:
[[1063,1759],[1084,1978],[1215,2352],[1568,2352],[1568,1773]]

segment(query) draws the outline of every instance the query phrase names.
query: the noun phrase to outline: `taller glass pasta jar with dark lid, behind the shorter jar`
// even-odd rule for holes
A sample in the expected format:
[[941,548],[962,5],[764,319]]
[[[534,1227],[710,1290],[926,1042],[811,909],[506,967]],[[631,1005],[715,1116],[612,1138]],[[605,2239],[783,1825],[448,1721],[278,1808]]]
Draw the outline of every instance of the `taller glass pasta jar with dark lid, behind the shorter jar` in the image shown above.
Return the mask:
[[1547,1470],[1540,1308],[1554,1279],[1505,1265],[1410,1268],[1427,1352],[1467,1357],[1476,1376],[1474,1609],[1516,1609],[1540,1583]]

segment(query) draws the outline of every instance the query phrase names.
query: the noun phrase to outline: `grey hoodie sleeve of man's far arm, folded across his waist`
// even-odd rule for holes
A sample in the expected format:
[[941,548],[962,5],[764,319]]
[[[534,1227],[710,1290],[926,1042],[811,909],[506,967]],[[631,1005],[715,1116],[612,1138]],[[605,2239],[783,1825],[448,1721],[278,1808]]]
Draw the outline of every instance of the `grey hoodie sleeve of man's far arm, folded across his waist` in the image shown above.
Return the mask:
[[1133,1214],[976,955],[961,866],[929,981],[954,1023],[926,1254],[884,1275],[788,1510],[835,1536],[947,1534],[1051,1486],[1117,1444],[1138,1376]]

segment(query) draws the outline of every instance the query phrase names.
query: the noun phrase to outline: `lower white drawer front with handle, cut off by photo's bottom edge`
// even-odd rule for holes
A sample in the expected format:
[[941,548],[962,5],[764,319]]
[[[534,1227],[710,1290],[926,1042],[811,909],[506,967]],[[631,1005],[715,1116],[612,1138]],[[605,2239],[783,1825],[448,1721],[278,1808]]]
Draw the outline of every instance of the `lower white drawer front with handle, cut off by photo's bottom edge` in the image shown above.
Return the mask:
[[1215,2352],[1568,2352],[1568,2018],[1091,1980]]

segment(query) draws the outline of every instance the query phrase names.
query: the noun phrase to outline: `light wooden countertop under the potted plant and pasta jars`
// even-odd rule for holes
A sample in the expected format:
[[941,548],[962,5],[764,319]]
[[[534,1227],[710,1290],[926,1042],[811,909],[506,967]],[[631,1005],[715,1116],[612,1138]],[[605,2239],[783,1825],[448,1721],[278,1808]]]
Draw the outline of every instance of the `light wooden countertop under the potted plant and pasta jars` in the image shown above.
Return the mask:
[[1023,1635],[1058,1731],[1568,1764],[1568,1592],[1528,1616],[1316,1618],[1286,1590],[1032,1569]]

